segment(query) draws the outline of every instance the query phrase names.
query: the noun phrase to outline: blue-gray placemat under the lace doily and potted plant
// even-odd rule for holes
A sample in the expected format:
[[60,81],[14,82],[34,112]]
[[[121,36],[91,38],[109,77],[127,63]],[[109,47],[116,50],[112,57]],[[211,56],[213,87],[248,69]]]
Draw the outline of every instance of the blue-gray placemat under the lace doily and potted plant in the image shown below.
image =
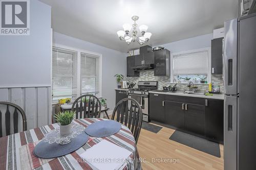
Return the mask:
[[67,144],[48,143],[40,141],[34,148],[33,154],[39,158],[56,158],[74,152],[86,144],[89,136],[82,132],[76,138],[72,138]]

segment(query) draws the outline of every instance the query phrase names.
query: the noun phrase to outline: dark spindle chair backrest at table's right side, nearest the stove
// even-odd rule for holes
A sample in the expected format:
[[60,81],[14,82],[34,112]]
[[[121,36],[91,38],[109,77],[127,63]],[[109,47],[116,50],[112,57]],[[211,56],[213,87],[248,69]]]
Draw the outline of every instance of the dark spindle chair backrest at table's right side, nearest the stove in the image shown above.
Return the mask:
[[131,98],[119,101],[114,108],[112,119],[127,126],[137,143],[142,125],[142,110],[140,104]]

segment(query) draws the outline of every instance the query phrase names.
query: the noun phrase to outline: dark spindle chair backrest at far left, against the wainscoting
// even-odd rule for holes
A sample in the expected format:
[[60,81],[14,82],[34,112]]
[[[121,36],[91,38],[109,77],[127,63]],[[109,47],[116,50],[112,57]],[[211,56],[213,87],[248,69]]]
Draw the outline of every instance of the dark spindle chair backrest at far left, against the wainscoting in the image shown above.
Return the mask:
[[[2,107],[4,106],[4,107]],[[0,137],[3,136],[3,125],[2,125],[2,114],[4,114],[3,117],[5,117],[5,120],[3,122],[5,122],[5,134],[10,135],[11,132],[13,133],[17,133],[18,132],[18,114],[22,115],[22,120],[23,120],[23,131],[27,130],[27,118],[25,115],[24,110],[19,107],[18,105],[14,104],[14,103],[10,103],[10,102],[0,102],[0,107],[2,108],[0,110]],[[13,109],[14,108],[14,109]],[[3,109],[6,109],[5,111]],[[14,111],[12,111],[14,110]],[[12,118],[12,120],[11,120]],[[11,123],[13,122],[13,123]],[[13,126],[11,126],[13,125]],[[13,128],[13,129],[11,129]],[[12,131],[13,130],[13,131]]]

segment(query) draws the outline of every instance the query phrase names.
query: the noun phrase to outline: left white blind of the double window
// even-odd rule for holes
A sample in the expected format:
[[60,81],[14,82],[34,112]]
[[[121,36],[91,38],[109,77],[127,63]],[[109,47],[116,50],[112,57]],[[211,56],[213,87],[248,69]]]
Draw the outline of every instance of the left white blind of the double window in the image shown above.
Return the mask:
[[64,48],[52,49],[52,97],[76,98],[77,52]]

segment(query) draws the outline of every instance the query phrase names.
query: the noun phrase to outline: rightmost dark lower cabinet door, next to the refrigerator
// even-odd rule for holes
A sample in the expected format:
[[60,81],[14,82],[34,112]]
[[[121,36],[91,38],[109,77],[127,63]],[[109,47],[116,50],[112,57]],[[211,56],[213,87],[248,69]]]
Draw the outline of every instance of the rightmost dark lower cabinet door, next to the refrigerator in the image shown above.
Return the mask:
[[224,137],[223,100],[205,99],[205,136],[212,141],[223,143]]

